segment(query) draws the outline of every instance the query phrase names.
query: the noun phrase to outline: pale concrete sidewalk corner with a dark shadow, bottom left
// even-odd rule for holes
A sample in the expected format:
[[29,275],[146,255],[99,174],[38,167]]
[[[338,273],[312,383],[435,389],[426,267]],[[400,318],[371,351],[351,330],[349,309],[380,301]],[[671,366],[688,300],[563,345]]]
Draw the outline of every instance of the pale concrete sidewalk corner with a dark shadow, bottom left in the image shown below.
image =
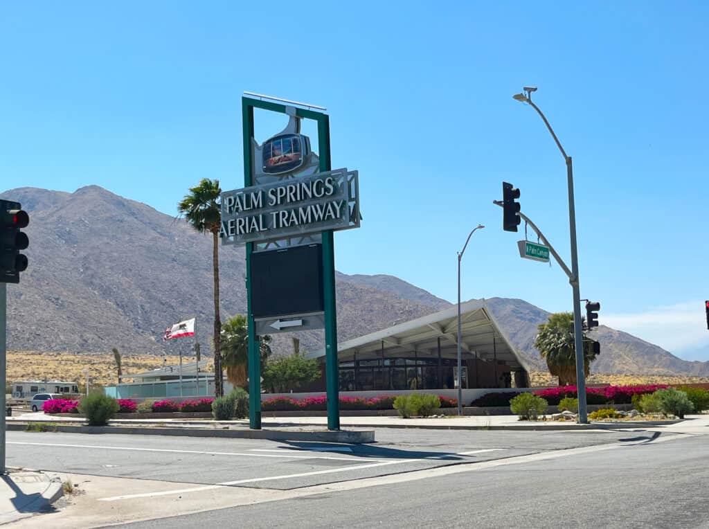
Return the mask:
[[0,481],[0,524],[52,511],[62,482],[43,472],[9,469]]

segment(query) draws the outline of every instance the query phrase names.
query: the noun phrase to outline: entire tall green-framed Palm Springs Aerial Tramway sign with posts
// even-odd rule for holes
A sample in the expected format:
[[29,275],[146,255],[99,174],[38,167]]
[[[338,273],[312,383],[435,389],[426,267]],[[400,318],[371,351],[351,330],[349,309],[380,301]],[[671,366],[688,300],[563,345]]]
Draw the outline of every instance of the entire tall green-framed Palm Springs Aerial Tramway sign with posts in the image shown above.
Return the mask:
[[[358,174],[330,167],[330,118],[313,110],[324,108],[257,97],[242,97],[244,187],[221,194],[220,229],[224,245],[246,247],[250,427],[261,428],[258,335],[325,328],[328,428],[337,430],[333,231],[359,228]],[[254,108],[289,116],[286,128],[259,145]],[[317,153],[303,119],[317,123]]]

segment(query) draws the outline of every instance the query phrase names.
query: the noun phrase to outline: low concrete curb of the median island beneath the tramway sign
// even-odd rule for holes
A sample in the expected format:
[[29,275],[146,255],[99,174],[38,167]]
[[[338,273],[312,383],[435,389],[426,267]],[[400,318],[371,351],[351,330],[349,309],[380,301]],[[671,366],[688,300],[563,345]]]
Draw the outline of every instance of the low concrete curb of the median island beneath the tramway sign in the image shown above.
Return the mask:
[[[23,423],[8,423],[7,430],[24,431]],[[300,426],[300,425],[298,425]],[[323,425],[316,425],[321,428]],[[186,437],[216,437],[237,439],[267,439],[274,441],[320,441],[362,444],[374,442],[374,430],[229,430],[197,428],[155,428],[130,426],[50,425],[50,431],[62,433],[123,433],[128,435],[182,435]],[[226,427],[228,428],[228,427]]]

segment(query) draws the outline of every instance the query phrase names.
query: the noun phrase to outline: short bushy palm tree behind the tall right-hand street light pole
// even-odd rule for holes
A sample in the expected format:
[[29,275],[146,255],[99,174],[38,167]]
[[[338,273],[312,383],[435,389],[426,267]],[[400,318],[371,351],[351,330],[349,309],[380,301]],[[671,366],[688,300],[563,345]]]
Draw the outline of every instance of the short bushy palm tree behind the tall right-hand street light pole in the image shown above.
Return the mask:
[[[587,330],[586,322],[582,328]],[[559,312],[549,316],[547,323],[538,327],[539,334],[534,346],[542,358],[547,360],[549,373],[559,377],[559,386],[576,385],[576,347],[574,345],[574,314]],[[588,366],[596,360],[591,340],[584,333],[584,373],[588,376]]]

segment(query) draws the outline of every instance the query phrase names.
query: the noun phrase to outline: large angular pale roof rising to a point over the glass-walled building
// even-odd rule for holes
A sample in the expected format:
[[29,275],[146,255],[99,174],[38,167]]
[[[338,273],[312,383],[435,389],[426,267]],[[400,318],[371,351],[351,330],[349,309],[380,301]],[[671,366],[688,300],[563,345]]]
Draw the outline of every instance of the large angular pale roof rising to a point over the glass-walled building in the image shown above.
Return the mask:
[[[461,351],[464,359],[504,360],[513,367],[529,366],[517,348],[501,330],[484,299],[466,301],[460,306]],[[399,323],[337,345],[341,361],[387,357],[437,357],[440,340],[441,357],[457,357],[458,306]],[[309,358],[325,356],[325,350],[306,354]]]

